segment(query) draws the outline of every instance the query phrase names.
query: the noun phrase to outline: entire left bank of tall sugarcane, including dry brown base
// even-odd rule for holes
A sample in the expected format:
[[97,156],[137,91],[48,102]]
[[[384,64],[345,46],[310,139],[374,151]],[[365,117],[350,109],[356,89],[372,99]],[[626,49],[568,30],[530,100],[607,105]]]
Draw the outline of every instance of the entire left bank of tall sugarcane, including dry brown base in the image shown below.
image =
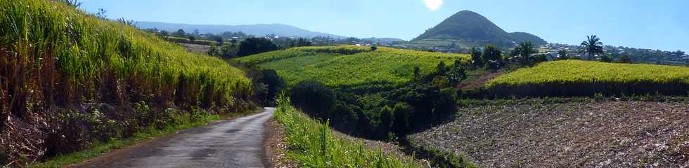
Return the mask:
[[221,59],[60,1],[0,8],[3,165],[249,108],[250,79]]

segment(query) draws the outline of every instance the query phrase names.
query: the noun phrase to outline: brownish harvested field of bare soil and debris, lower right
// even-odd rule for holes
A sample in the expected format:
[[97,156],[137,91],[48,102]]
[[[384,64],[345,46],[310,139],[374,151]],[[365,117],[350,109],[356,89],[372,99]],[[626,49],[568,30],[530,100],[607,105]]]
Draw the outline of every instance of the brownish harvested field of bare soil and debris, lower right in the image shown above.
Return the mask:
[[411,141],[482,167],[689,167],[689,102],[530,99],[459,113]]

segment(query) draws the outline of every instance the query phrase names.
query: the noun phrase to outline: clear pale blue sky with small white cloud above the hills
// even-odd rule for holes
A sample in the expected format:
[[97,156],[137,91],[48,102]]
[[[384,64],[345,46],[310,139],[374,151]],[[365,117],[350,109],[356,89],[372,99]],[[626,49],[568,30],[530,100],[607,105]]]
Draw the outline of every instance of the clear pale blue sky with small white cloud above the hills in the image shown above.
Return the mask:
[[340,36],[411,40],[461,10],[505,31],[578,45],[595,34],[605,45],[689,51],[685,0],[82,0],[108,18],[203,25],[280,23]]

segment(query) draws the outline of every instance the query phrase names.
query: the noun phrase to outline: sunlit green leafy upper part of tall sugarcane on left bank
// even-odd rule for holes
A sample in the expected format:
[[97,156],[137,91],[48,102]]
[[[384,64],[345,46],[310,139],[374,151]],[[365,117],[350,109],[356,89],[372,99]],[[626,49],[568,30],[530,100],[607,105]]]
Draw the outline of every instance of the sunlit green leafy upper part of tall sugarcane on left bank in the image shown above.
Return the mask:
[[179,83],[180,75],[199,83],[212,79],[219,83],[215,87],[227,95],[236,83],[250,83],[243,71],[221,59],[185,52],[153,34],[86,15],[63,3],[2,0],[0,7],[4,50],[28,59],[52,59],[49,56],[54,53],[58,73],[73,78],[75,83],[89,83],[104,69],[122,78],[131,76],[172,85]]

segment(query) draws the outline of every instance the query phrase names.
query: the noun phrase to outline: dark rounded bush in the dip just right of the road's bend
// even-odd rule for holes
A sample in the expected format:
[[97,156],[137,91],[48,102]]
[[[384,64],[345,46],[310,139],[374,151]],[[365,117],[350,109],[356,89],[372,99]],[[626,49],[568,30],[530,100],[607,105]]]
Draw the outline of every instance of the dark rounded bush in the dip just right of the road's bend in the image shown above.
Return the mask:
[[295,106],[318,118],[327,118],[335,107],[335,92],[316,80],[297,83],[290,98]]

